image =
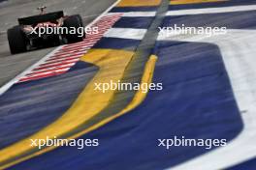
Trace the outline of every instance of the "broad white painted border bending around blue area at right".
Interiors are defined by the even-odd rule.
[[[227,146],[197,156],[172,170],[225,169],[256,156],[256,31],[228,30],[226,35],[172,35],[161,41],[209,42],[219,46],[243,121],[239,136]],[[234,154],[234,152],[236,154]]]

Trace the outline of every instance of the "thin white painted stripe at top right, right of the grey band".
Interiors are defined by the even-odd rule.
[[[233,13],[233,12],[245,12],[245,11],[256,11],[256,5],[177,10],[177,11],[169,11],[166,15],[219,14],[219,13]]]

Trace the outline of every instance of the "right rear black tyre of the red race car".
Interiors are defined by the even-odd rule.
[[[82,23],[80,14],[68,16],[66,19],[64,19],[63,26],[68,28],[68,34],[66,34],[65,37],[69,43],[81,42],[83,40],[84,29],[83,29],[83,23]],[[82,27],[82,30],[83,30],[82,35],[79,33],[79,31],[77,31],[79,27]],[[76,34],[70,34],[71,32],[74,31],[74,28],[76,29]]]

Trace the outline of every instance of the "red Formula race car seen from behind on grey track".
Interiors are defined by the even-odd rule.
[[[38,15],[18,18],[18,25],[8,29],[7,37],[12,54],[83,40],[85,34],[80,14],[67,16],[63,11],[45,14],[44,9],[46,7],[38,8],[41,11]],[[77,31],[79,28],[83,29],[82,34]]]

